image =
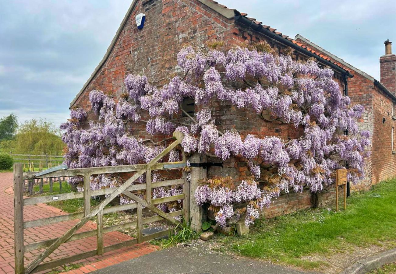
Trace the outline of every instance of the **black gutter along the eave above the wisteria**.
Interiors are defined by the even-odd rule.
[[[247,19],[246,17],[242,16],[242,15],[235,15],[235,20],[246,25],[247,27],[250,27],[254,30],[257,30],[259,32],[261,32],[262,34],[264,34],[265,36],[268,36],[269,38],[275,39],[276,41],[285,44],[286,46],[289,46],[290,48],[293,48],[309,57],[314,57],[316,59],[318,59],[318,61],[320,61],[320,63],[329,66],[331,68],[333,68],[334,70],[345,74],[346,76],[352,78],[353,75],[350,74],[350,72],[344,70],[343,68],[323,59],[322,57],[320,57],[319,55],[316,55],[315,53],[310,52],[309,50],[302,48],[300,46],[298,46],[297,44],[294,44],[293,42],[291,42],[290,40],[276,34],[275,32],[272,32],[266,28],[264,28],[262,25],[257,25],[256,23],[253,23],[253,21],[250,21],[249,19]]]

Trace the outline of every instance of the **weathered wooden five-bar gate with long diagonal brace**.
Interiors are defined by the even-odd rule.
[[[185,180],[185,174],[183,172],[182,179],[152,182],[151,181],[151,171],[153,170],[163,170],[163,169],[181,169],[186,166],[186,159],[183,153],[183,160],[181,162],[171,162],[171,163],[159,163],[166,154],[168,154],[173,148],[181,143],[183,140],[183,134],[176,131],[173,133],[173,137],[176,139],[169,147],[164,149],[158,156],[156,156],[148,164],[138,164],[138,165],[127,165],[127,166],[111,166],[111,167],[89,167],[89,168],[79,168],[79,169],[66,169],[54,171],[47,173],[45,175],[40,175],[37,177],[32,177],[32,175],[23,174],[22,165],[14,165],[14,231],[15,231],[15,273],[31,273],[46,270],[49,268],[54,268],[63,264],[71,263],[73,261],[78,261],[80,259],[85,259],[95,255],[101,255],[105,252],[119,249],[132,244],[141,243],[153,238],[168,235],[169,230],[156,232],[154,234],[149,234],[143,236],[142,226],[143,224],[152,223],[155,221],[166,219],[170,223],[177,225],[179,221],[175,219],[176,216],[183,215],[186,220],[190,219],[190,185]],[[90,188],[90,176],[97,174],[106,173],[123,173],[123,172],[135,172],[132,177],[130,177],[123,185],[114,188],[103,188],[99,190],[91,190]],[[132,183],[138,179],[142,174],[146,173],[146,183],[132,185]],[[23,181],[24,179],[40,179],[48,177],[70,177],[70,176],[84,176],[84,192],[72,192],[63,193],[57,195],[48,196],[38,196],[32,198],[23,198]],[[166,198],[152,199],[151,193],[152,188],[161,186],[173,186],[173,185],[183,185],[183,194],[175,195]],[[146,200],[143,200],[131,193],[134,190],[146,190]],[[130,199],[134,200],[136,203],[117,205],[106,207],[114,198],[118,195],[124,194]],[[108,195],[105,200],[103,200],[99,205],[91,209],[90,199],[91,196],[98,195]],[[69,215],[61,215],[56,217],[49,217],[44,219],[37,219],[34,221],[24,221],[23,220],[23,207],[25,205],[34,205],[39,203],[53,202],[54,200],[69,200],[75,198],[84,198],[84,212],[72,213]],[[165,202],[172,202],[177,200],[183,200],[183,208],[179,211],[165,213],[164,211],[158,209],[155,205]],[[142,208],[147,207],[154,213],[158,214],[153,217],[143,218]],[[108,227],[103,227],[103,214],[112,213],[117,211],[123,211],[128,209],[137,209],[137,221],[132,221],[129,223],[124,223],[121,225],[113,225]],[[80,233],[75,233],[89,220],[96,217],[97,220],[97,230],[85,231]],[[25,228],[31,228],[36,226],[44,226],[53,223],[59,223],[63,221],[69,221],[73,219],[80,219],[72,228],[70,228],[63,236],[55,239],[44,240],[41,242],[34,242],[31,244],[24,244],[23,231]],[[116,231],[129,226],[137,227],[137,238],[133,240],[128,240],[119,244],[103,246],[103,234],[106,232]],[[80,253],[78,255],[49,261],[42,263],[42,261],[48,257],[55,249],[57,249],[61,244],[65,242],[70,242],[90,236],[97,236],[97,249],[88,251],[85,253]],[[35,258],[29,265],[25,267],[24,265],[24,253],[35,250],[46,248],[41,255]],[[42,264],[40,264],[42,263]]]

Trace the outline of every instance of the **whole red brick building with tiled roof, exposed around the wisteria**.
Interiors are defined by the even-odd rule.
[[[135,23],[135,17],[139,13],[145,13],[143,29],[138,29]],[[362,183],[362,187],[367,188],[371,182],[376,183],[393,175],[392,167],[394,168],[396,159],[388,146],[390,135],[387,135],[387,132],[394,126],[394,120],[391,114],[386,114],[395,98],[392,93],[379,82],[372,78],[370,80],[367,78],[369,76],[364,76],[360,70],[341,62],[324,50],[315,48],[308,42],[293,40],[276,29],[247,17],[246,13],[211,0],[134,0],[105,56],[72,101],[71,107],[90,110],[88,94],[93,89],[112,92],[117,97],[125,91],[124,78],[129,73],[145,74],[151,80],[166,77],[177,70],[176,56],[181,48],[186,45],[201,48],[208,40],[223,40],[226,48],[240,43],[267,41],[278,53],[292,49],[296,59],[306,60],[313,57],[322,65],[332,68],[341,90],[348,87],[352,102],[364,103],[368,107],[360,123],[362,127],[368,127],[374,133],[375,153],[369,160],[367,180]],[[392,58],[395,58],[394,55],[381,57],[384,68],[392,65]],[[385,62],[388,59],[391,61]],[[387,85],[395,83],[392,82],[394,71],[389,75],[384,72],[384,77],[387,77],[390,83]],[[195,108],[195,111],[198,111],[200,106]],[[234,128],[241,135],[252,133],[262,137],[271,135],[292,139],[300,134],[293,126],[265,122],[257,113],[237,110],[232,105],[218,105],[213,114],[220,130]],[[385,123],[382,123],[382,116],[386,118]],[[380,123],[381,126],[375,126],[376,123]],[[137,126],[136,132],[139,137],[145,137],[144,128],[143,123]],[[388,152],[388,149],[390,154],[386,159],[389,162],[381,167],[381,162],[384,164],[385,161],[375,157]],[[379,167],[381,170],[377,169]],[[249,171],[244,159],[232,158],[224,162],[223,167],[208,168],[207,175],[230,175],[240,180],[248,176]],[[333,192],[326,195],[330,197]],[[291,193],[276,200],[265,215],[272,217],[311,205],[312,194],[309,192]]]

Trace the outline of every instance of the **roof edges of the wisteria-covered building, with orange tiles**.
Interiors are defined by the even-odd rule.
[[[309,52],[314,57],[316,57],[318,59],[318,61],[324,63],[325,65],[331,65],[331,67],[333,67],[333,68],[334,68],[334,66],[335,66],[335,68],[339,67],[342,70],[344,70],[346,72],[346,74],[348,74],[349,77],[353,77],[349,73],[351,71],[351,69],[348,68],[348,66],[343,65],[342,62],[340,62],[340,61],[333,62],[330,57],[328,57],[328,56],[326,56],[326,55],[324,55],[324,54],[322,54],[322,53],[320,53],[318,51],[315,51],[314,49],[308,48],[308,47],[304,46],[301,43],[298,43],[294,39],[290,38],[287,35],[282,34],[282,32],[276,31],[276,29],[274,29],[274,28],[272,28],[270,26],[263,25],[263,22],[257,21],[255,18],[247,17],[247,13],[241,13],[238,10],[227,8],[226,6],[224,6],[222,4],[219,4],[218,2],[213,1],[213,0],[198,0],[198,1],[201,2],[202,4],[208,6],[212,10],[220,13],[221,15],[226,17],[227,19],[234,19],[236,17],[244,17],[244,18],[246,18],[247,20],[249,20],[251,22],[250,23],[250,27],[252,27],[253,29],[257,29],[258,27],[261,27],[261,28],[263,28],[265,30],[268,30],[269,32],[272,32],[274,34],[274,37],[278,36],[278,38],[282,38],[282,39],[284,39],[284,41],[291,42],[291,43],[297,45],[297,48],[304,49],[303,53]],[[110,53],[111,53],[112,49],[114,48],[114,46],[115,46],[115,44],[116,44],[116,42],[118,40],[118,37],[120,36],[122,30],[124,29],[124,26],[126,25],[130,15],[131,15],[131,13],[133,11],[133,8],[135,8],[136,3],[137,3],[137,0],[133,0],[131,6],[129,7],[129,9],[128,9],[127,13],[126,13],[126,15],[124,16],[124,19],[122,20],[122,22],[120,24],[120,27],[118,28],[118,30],[116,32],[116,35],[114,36],[113,40],[111,41],[111,44],[110,44],[109,48],[107,49],[107,51],[105,53],[105,56],[100,61],[99,65],[97,65],[95,70],[92,72],[91,76],[89,77],[87,82],[84,84],[82,89],[78,92],[76,97],[70,103],[70,106],[72,106],[74,103],[76,103],[76,101],[78,100],[80,95],[84,92],[84,90],[87,88],[87,86],[89,85],[91,80],[95,77],[95,75],[99,72],[99,70],[102,68],[102,66],[105,64],[105,62],[109,58]],[[296,48],[296,47],[293,47],[293,48]],[[305,50],[307,50],[307,51],[305,51]]]

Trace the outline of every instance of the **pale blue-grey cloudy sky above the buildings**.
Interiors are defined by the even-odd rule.
[[[218,0],[280,32],[301,34],[379,80],[394,0]],[[243,4],[241,4],[241,2]],[[102,59],[131,0],[0,0],[0,117],[59,125]]]

